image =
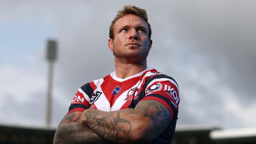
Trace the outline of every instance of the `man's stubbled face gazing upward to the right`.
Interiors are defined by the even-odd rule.
[[[128,14],[115,22],[114,39],[109,39],[108,46],[118,59],[130,62],[143,61],[151,48],[148,40],[148,25],[137,15]]]

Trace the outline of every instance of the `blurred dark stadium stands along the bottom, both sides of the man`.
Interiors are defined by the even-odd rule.
[[[0,144],[52,144],[55,131],[0,125]],[[178,126],[172,144],[256,144],[256,128]]]

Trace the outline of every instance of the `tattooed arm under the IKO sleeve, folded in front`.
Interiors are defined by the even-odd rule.
[[[113,143],[150,142],[171,122],[167,108],[154,100],[143,100],[135,109],[104,112],[87,109],[80,122]]]

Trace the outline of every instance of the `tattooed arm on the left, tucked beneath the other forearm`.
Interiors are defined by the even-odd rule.
[[[78,122],[82,112],[76,111],[64,116],[54,135],[54,144],[106,144],[106,140],[88,126]]]

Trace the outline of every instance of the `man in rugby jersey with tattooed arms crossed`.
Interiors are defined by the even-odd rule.
[[[147,67],[150,37],[144,9],[124,6],[118,11],[108,40],[116,71],[78,89],[55,144],[171,142],[179,88],[173,78]]]

